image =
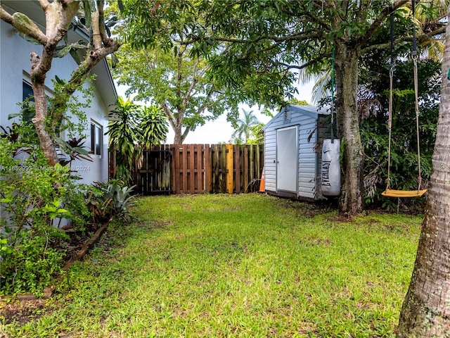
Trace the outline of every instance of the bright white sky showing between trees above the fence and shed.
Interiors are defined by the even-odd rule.
[[[313,82],[309,84],[299,84],[298,92],[299,94],[295,95],[297,99],[307,101],[311,103],[311,92],[312,87],[314,86]],[[117,85],[117,94],[119,96],[124,96],[124,92],[127,89],[124,86]],[[136,102],[136,104],[139,104]],[[257,116],[259,122],[268,123],[271,118],[266,115],[262,115],[259,113],[258,106],[240,106],[239,112],[243,114],[243,109],[245,111],[252,110]],[[278,112],[274,112],[275,114]],[[274,114],[274,115],[275,115]],[[188,133],[188,136],[184,140],[184,144],[219,144],[219,143],[228,143],[231,141],[231,135],[233,134],[234,129],[231,127],[231,123],[226,121],[226,114],[221,115],[217,120],[207,122],[205,125],[201,127],[195,128],[194,131]],[[174,131],[172,127],[169,127],[169,134],[167,134],[166,143],[172,144],[174,142]]]

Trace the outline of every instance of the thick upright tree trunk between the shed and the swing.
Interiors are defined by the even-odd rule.
[[[336,42],[336,113],[338,135],[344,144],[344,184],[340,211],[356,215],[364,210],[364,149],[359,133],[358,49],[345,42]]]

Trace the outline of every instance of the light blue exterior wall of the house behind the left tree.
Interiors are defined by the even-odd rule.
[[[0,21],[0,125],[2,127],[11,126],[17,118],[8,120],[11,113],[19,113],[18,103],[23,101],[23,80],[30,82],[30,53],[37,51],[41,53],[41,46],[27,42],[14,32],[13,27]],[[72,70],[75,70],[77,63],[72,57],[54,58],[51,70],[46,77],[46,86],[51,95],[53,83],[51,79],[58,75],[61,79],[69,79]],[[91,145],[91,119],[103,127],[103,133],[108,128],[108,121],[105,116],[108,114],[108,106],[101,99],[96,85],[84,84],[85,87],[91,87],[94,95],[91,98],[91,105],[85,109],[88,125],[84,134],[86,135],[86,146],[90,150]],[[82,96],[79,101],[84,102]],[[67,139],[67,135],[61,135]],[[93,161],[75,161],[72,163],[72,169],[77,170],[82,177],[80,182],[91,183],[108,180],[108,137],[103,136],[102,155],[93,155]]]

